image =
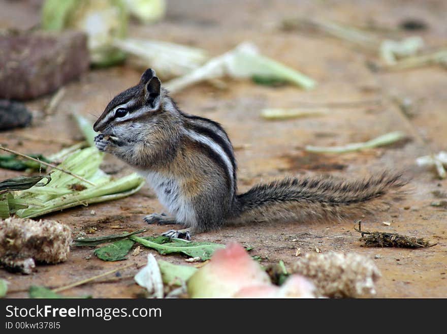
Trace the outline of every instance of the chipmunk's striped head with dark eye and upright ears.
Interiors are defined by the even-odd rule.
[[[106,135],[132,131],[132,124],[159,111],[161,94],[161,81],[154,70],[147,69],[136,86],[124,90],[109,102],[93,130]]]

